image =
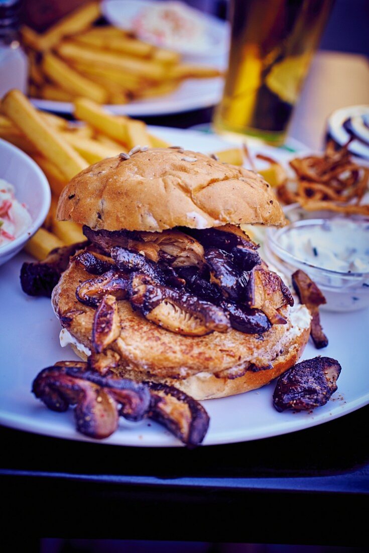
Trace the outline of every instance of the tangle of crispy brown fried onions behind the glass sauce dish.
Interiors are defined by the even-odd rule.
[[[296,177],[292,182],[281,182],[278,199],[284,204],[298,202],[309,211],[369,215],[369,205],[361,204],[368,190],[369,168],[352,160],[348,147],[349,143],[335,150],[334,143],[329,142],[323,155],[292,159],[289,165]]]

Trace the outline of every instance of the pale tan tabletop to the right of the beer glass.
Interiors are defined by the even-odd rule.
[[[326,118],[335,109],[369,104],[365,56],[319,51],[293,114],[289,137],[312,149],[323,146]]]

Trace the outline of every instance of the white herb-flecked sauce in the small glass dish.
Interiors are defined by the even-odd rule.
[[[309,223],[314,221],[309,220]],[[280,236],[282,248],[305,263],[342,273],[369,272],[369,223],[331,219],[290,225]]]

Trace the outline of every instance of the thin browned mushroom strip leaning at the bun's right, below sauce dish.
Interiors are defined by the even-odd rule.
[[[312,326],[310,336],[317,349],[328,346],[328,338],[323,332],[320,324],[319,305],[326,303],[326,300],[318,286],[301,269],[292,275],[293,288],[302,304],[305,304],[312,314]]]

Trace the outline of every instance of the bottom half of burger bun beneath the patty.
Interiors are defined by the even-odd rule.
[[[256,372],[247,371],[243,376],[232,379],[218,378],[207,372],[197,373],[183,379],[151,377],[146,377],[146,379],[175,386],[196,400],[224,398],[261,388],[293,367],[301,357],[309,340],[311,317],[308,309],[304,305],[295,306],[290,310],[290,317],[293,326],[284,337],[283,351],[271,362],[270,369]],[[86,352],[78,349],[75,343],[71,343],[71,346],[78,357],[87,361]],[[132,369],[118,367],[114,371],[123,378],[143,380],[143,373]]]

